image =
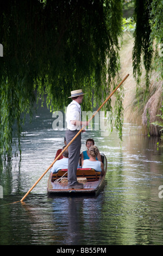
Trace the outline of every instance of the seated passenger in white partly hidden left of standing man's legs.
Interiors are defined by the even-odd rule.
[[[62,150],[64,150],[66,146],[64,146],[62,148]],[[66,149],[64,151],[64,153],[62,154],[63,158],[60,160],[57,160],[54,164],[53,167],[51,169],[52,173],[57,173],[58,170],[60,169],[67,169],[68,168],[68,149]]]

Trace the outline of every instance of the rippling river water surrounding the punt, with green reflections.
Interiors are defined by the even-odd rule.
[[[82,133],[82,151],[91,137],[108,159],[97,197],[48,197],[48,172],[23,203],[9,204],[21,200],[62,148],[65,131],[53,131],[52,122],[48,111],[37,113],[25,127],[21,162],[19,157],[1,159],[0,244],[162,245],[163,149],[131,124],[124,124],[121,145],[116,132],[109,137]]]

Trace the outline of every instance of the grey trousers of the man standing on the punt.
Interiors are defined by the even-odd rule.
[[[67,144],[71,142],[74,136],[77,135],[79,131],[66,130],[66,142]],[[81,148],[81,133],[68,147],[68,185],[74,185],[77,182],[77,167],[80,156]]]

